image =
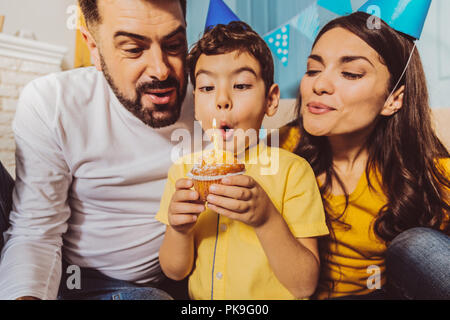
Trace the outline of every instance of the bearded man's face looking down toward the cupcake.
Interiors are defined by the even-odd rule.
[[[99,0],[98,7],[97,68],[119,101],[145,124],[175,123],[187,86],[186,24],[179,1]]]

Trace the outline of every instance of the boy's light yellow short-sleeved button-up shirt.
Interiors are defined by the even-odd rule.
[[[184,163],[186,159],[191,157],[169,170],[156,216],[162,223],[168,224],[176,180],[186,177],[192,168],[192,164]],[[260,143],[250,150],[245,165],[245,174],[264,188],[296,238],[328,234],[316,179],[304,159]],[[269,167],[278,170],[262,174],[264,170],[269,172]],[[194,239],[195,264],[189,276],[192,299],[294,299],[273,273],[252,227],[207,209],[197,220]]]

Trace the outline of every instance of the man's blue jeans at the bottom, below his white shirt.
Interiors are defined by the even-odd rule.
[[[79,269],[80,282],[77,288],[76,282],[73,281],[75,272],[67,269],[68,267],[63,261],[59,300],[173,300],[173,297],[187,299],[184,281],[174,282],[165,279],[158,285],[138,285],[109,278],[89,268]]]

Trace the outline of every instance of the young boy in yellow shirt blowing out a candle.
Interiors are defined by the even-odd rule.
[[[247,24],[205,33],[188,67],[197,120],[208,130],[217,119],[224,141],[238,129],[259,130],[264,115],[275,114],[272,55]],[[309,297],[319,275],[316,237],[328,234],[314,173],[302,158],[262,142],[244,149],[245,174],[211,186],[207,208],[186,178],[192,164],[171,167],[157,214],[167,225],[161,268],[174,280],[189,276],[192,299]],[[278,172],[262,175],[258,157],[274,151]]]

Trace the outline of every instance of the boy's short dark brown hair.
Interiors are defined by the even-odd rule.
[[[192,47],[187,57],[187,67],[194,88],[195,66],[202,54],[226,54],[235,50],[240,53],[247,52],[259,62],[267,94],[274,83],[272,53],[266,42],[248,24],[241,21],[233,21],[228,25],[218,24],[210,28]]]

